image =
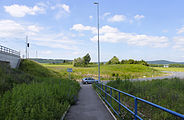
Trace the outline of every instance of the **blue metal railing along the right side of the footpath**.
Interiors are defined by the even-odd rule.
[[[174,116],[177,116],[177,117],[181,118],[181,120],[184,120],[184,115],[182,115],[182,114],[180,114],[180,113],[174,112],[174,111],[172,111],[172,110],[169,110],[169,109],[164,108],[164,107],[162,107],[162,106],[159,106],[159,105],[157,105],[157,104],[151,103],[151,102],[149,102],[149,101],[147,101],[147,100],[144,100],[144,99],[141,99],[141,98],[139,98],[139,97],[136,97],[136,96],[133,96],[133,95],[131,95],[131,94],[128,94],[128,93],[126,93],[126,92],[120,91],[120,90],[118,90],[118,89],[116,89],[116,88],[110,87],[110,86],[105,85],[105,84],[103,84],[103,83],[96,83],[95,86],[96,86],[96,88],[98,89],[98,90],[97,90],[97,93],[98,93],[98,94],[102,97],[102,99],[110,106],[110,108],[114,111],[114,113],[115,113],[118,117],[120,117],[120,114],[119,114],[119,113],[121,112],[121,106],[122,106],[122,107],[125,108],[127,111],[129,111],[132,115],[134,115],[134,120],[137,120],[137,119],[143,120],[143,119],[137,114],[137,113],[138,113],[138,107],[137,107],[138,101],[141,101],[141,102],[146,103],[146,104],[148,104],[148,105],[151,105],[151,106],[153,106],[153,107],[155,107],[155,108],[158,108],[158,109],[160,109],[160,110],[162,110],[162,111],[165,111],[165,112],[167,112],[167,113],[169,113],[169,114],[172,114],[172,115],[174,115]],[[104,87],[105,87],[105,88],[104,88]],[[107,92],[107,88],[110,89],[110,92],[109,92],[109,93]],[[115,97],[112,96],[112,90],[118,92],[118,99],[116,99]],[[103,96],[103,94],[105,94],[105,96]],[[121,94],[124,94],[124,95],[129,96],[129,97],[131,97],[131,98],[134,99],[134,111],[130,110],[126,105],[124,105],[124,104],[121,103]],[[108,101],[107,96],[110,97],[110,101]],[[113,106],[112,106],[112,100],[114,100],[115,102],[117,102],[117,103],[119,104],[119,105],[118,105],[118,111],[116,111],[115,108],[113,108]],[[118,113],[118,112],[119,112],[119,113]]]

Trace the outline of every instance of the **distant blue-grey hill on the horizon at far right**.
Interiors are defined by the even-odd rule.
[[[184,64],[184,62],[172,62],[167,60],[146,61],[148,64]]]

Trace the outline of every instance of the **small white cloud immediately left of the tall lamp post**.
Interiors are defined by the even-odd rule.
[[[84,26],[82,24],[75,24],[75,25],[73,25],[73,27],[71,29],[75,30],[75,31],[85,31],[85,30],[87,30],[87,31],[92,31],[92,33],[97,32],[96,27]]]

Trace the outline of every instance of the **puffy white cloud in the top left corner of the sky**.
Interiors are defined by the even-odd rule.
[[[36,15],[45,13],[45,9],[37,5],[33,7],[28,7],[26,5],[14,4],[10,6],[4,6],[4,9],[7,13],[9,13],[13,17],[24,17],[26,14]]]

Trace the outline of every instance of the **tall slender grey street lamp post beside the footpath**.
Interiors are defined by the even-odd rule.
[[[98,80],[100,82],[100,41],[99,41],[99,3],[95,2],[97,5],[97,26],[98,26]]]

